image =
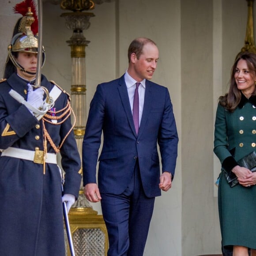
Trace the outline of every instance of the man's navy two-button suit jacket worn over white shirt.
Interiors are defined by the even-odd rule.
[[[98,159],[102,131],[104,139]],[[138,159],[146,196],[160,196],[157,143],[162,170],[174,176],[178,136],[168,89],[146,80],[137,136],[124,75],[99,84],[90,103],[83,139],[83,184],[96,183],[99,160],[100,193],[121,194],[128,186]]]

